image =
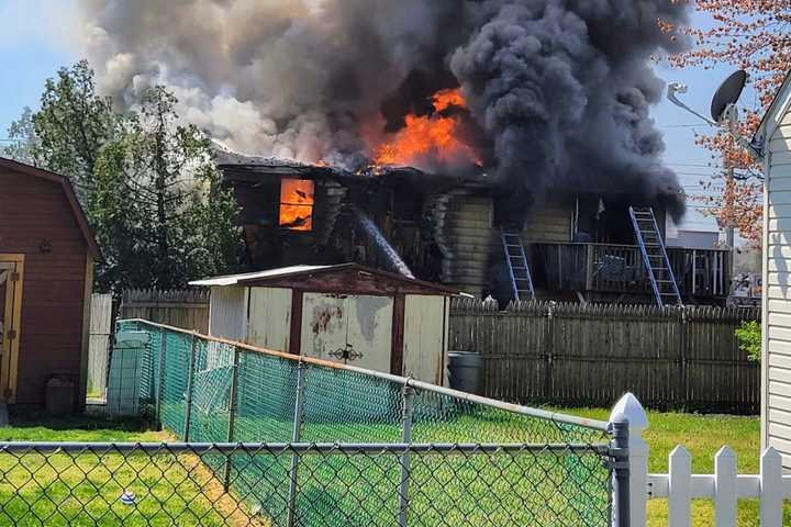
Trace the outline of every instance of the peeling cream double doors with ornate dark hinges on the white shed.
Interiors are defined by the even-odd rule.
[[[393,299],[305,293],[301,354],[390,371]]]

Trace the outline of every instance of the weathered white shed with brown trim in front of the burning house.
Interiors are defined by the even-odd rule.
[[[287,267],[192,285],[211,288],[212,336],[446,381],[448,288],[356,264]]]

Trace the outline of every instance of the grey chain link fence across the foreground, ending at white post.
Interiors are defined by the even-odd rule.
[[[609,474],[592,470],[606,457],[579,446],[0,444],[0,525],[606,525]],[[590,466],[583,481],[578,462]],[[562,479],[578,481],[572,495],[555,487]]]

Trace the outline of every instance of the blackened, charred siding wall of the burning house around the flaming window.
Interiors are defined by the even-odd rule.
[[[293,168],[229,173],[243,210],[250,270],[354,261],[398,272],[371,236],[374,225],[379,240],[387,242],[414,277],[476,296],[508,300],[511,294],[499,195],[484,180],[443,182],[414,171],[347,175]],[[294,178],[314,183],[310,231],[283,227],[278,217],[282,181]],[[525,244],[633,245],[631,200],[556,193],[521,211],[525,222],[520,232]],[[664,229],[664,206],[653,205]],[[360,216],[369,220],[367,228]]]

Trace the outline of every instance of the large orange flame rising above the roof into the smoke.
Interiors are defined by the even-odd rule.
[[[439,115],[452,106],[467,108],[461,89],[438,91],[432,104],[434,115],[404,117],[404,127],[376,150],[376,165],[420,165],[426,159],[442,164],[480,164],[475,149],[458,137],[461,120]]]

